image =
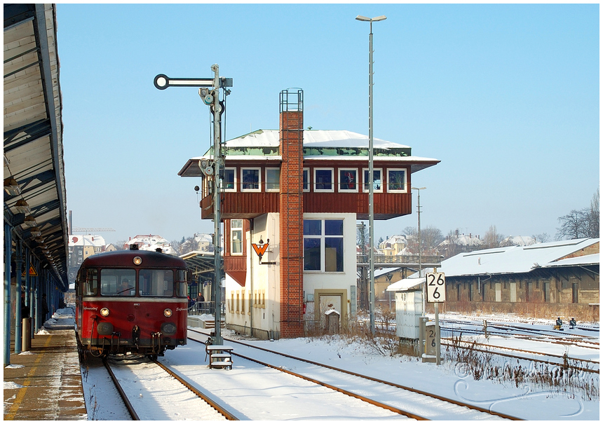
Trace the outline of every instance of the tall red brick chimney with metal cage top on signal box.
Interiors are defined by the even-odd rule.
[[[280,92],[280,336],[304,335],[304,92]]]

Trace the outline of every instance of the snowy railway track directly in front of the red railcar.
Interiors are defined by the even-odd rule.
[[[118,362],[121,361],[103,360],[103,364],[107,368],[132,420],[179,419],[180,417],[169,416],[165,411],[181,409],[184,412],[191,410],[190,393],[198,398],[198,402],[194,402],[194,416],[196,419],[239,419],[236,413],[218,404],[214,399],[205,395],[194,385],[191,385],[184,378],[156,360],[150,360],[146,357],[128,360],[127,369],[126,367],[120,367]],[[146,369],[144,373],[138,372],[137,367]],[[148,367],[156,367],[157,370],[152,372],[152,380],[147,381],[145,375],[149,374]],[[165,374],[164,378],[158,375],[162,373]],[[170,393],[169,399],[165,399],[164,394],[166,392]],[[143,397],[151,397],[152,400],[150,402],[147,399],[143,401]],[[182,408],[179,408],[178,405],[175,406],[177,402],[182,402]],[[166,407],[166,403],[169,404],[168,407]]]

